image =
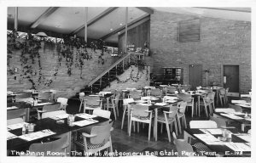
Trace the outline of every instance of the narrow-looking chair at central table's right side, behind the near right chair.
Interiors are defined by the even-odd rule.
[[[185,110],[186,110],[186,107],[187,107],[187,102],[179,102],[177,104],[177,125],[178,125],[178,129],[179,129],[179,132],[182,133],[181,131],[181,124],[180,124],[180,120],[182,121],[182,124],[185,128],[187,128],[187,121],[186,121],[186,116],[185,116]]]

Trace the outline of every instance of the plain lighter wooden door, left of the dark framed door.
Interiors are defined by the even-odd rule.
[[[189,65],[189,85],[192,90],[202,86],[202,65]]]

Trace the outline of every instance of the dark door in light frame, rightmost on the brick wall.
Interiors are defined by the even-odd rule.
[[[230,93],[239,93],[239,65],[224,65],[224,88]]]

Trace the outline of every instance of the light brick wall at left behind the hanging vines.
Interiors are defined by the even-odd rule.
[[[106,70],[110,65],[113,64],[114,61],[110,53],[104,53],[103,59],[105,59],[105,64],[98,64],[98,57],[101,55],[102,51],[96,50],[96,52],[94,52],[92,49],[88,48],[88,52],[92,54],[92,59],[84,59],[83,78],[80,79],[80,70],[79,68],[76,68],[74,66],[75,64],[73,64],[72,75],[67,75],[67,65],[64,58],[61,61],[61,67],[59,68],[57,76],[53,76],[55,70],[54,68],[57,65],[57,51],[55,48],[51,49],[47,46],[45,48],[41,48],[39,50],[39,53],[41,56],[42,74],[44,75],[46,80],[52,79],[53,82],[50,84],[49,87],[44,86],[44,84],[40,84],[37,89],[55,89],[60,91],[57,92],[59,96],[67,98],[72,97],[73,95],[75,95],[75,93],[79,93],[79,90],[81,88],[87,85],[96,76],[100,75],[102,71]],[[75,63],[75,61],[73,63]],[[34,69],[38,69],[38,65],[34,66]],[[19,92],[32,87],[31,82],[28,82],[26,79],[20,78],[20,51],[14,51],[12,53],[12,59],[10,59],[10,67],[18,68],[18,72],[13,76],[8,76],[8,90]]]

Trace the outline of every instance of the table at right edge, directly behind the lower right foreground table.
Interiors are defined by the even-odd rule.
[[[246,117],[247,115],[247,117]],[[213,117],[221,117],[241,124],[241,131],[244,132],[245,126],[251,126],[251,115],[241,112],[213,112]]]

